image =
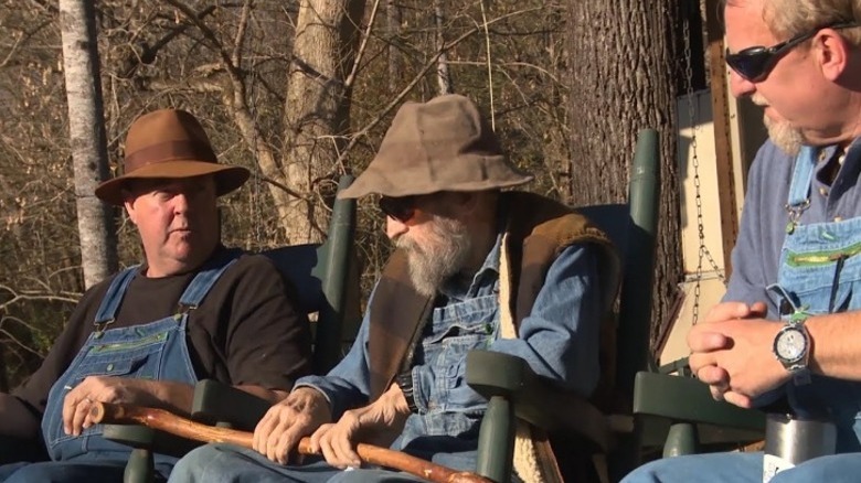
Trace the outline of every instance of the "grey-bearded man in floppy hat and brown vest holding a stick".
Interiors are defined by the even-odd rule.
[[[523,357],[588,396],[618,264],[587,219],[542,196],[500,191],[530,180],[468,98],[402,106],[374,160],[341,194],[381,195],[397,248],[350,353],[328,375],[299,379],[269,410],[254,433],[256,451],[199,448],[171,481],[414,480],[340,471],[361,465],[360,441],[475,471],[486,401],[465,383],[474,348]],[[308,434],[326,461],[285,465]],[[515,464],[522,479],[546,477],[524,463]]]

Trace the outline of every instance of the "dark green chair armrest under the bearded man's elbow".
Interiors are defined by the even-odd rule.
[[[536,375],[518,356],[492,351],[467,354],[467,384],[488,400],[501,396],[514,404],[518,418],[549,431],[575,431],[600,451],[612,446],[604,414],[582,396],[563,391]]]

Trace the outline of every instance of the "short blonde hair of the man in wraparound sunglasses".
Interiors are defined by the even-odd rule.
[[[778,39],[789,39],[833,22],[861,25],[861,0],[763,0],[763,20]],[[838,32],[853,46],[861,45],[861,29]]]

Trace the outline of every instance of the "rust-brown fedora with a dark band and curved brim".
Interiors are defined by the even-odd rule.
[[[96,187],[96,196],[123,205],[123,185],[134,179],[180,179],[213,174],[219,196],[242,186],[251,173],[219,164],[198,119],[179,109],[161,109],[137,118],[126,136],[123,175]]]

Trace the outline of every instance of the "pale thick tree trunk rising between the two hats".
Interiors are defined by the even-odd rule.
[[[334,162],[350,127],[351,86],[364,0],[301,0],[287,79],[283,171],[302,197],[281,219],[291,243],[321,236],[316,183],[340,171]]]

